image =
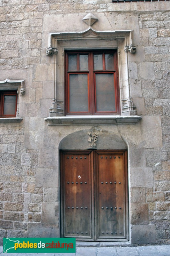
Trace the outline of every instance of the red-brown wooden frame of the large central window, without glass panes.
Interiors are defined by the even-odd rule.
[[[77,54],[77,69],[68,70],[68,55]],[[88,55],[89,57],[89,70],[79,70],[79,54]],[[103,55],[103,70],[94,70],[93,54]],[[105,56],[104,54],[113,54],[114,56],[114,70],[105,70]],[[115,84],[115,112],[97,112],[96,111],[96,95],[95,95],[95,74],[114,74]],[[88,99],[89,108],[88,112],[70,112],[69,111],[69,75],[70,74],[89,74],[88,79]],[[116,50],[97,50],[97,51],[65,51],[65,115],[119,115],[120,114],[120,96],[119,96],[119,77],[118,77],[118,61]]]

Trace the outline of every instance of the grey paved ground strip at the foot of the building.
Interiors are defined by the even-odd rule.
[[[170,245],[77,247],[76,253],[3,253],[0,256],[170,256]]]

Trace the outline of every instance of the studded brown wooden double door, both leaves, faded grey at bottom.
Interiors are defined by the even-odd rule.
[[[126,150],[60,152],[61,236],[128,240]]]

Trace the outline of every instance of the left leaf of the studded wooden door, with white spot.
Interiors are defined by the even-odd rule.
[[[61,235],[94,240],[93,151],[61,151]]]

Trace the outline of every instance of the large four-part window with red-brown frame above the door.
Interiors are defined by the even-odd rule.
[[[116,51],[66,52],[66,115],[119,114]]]

